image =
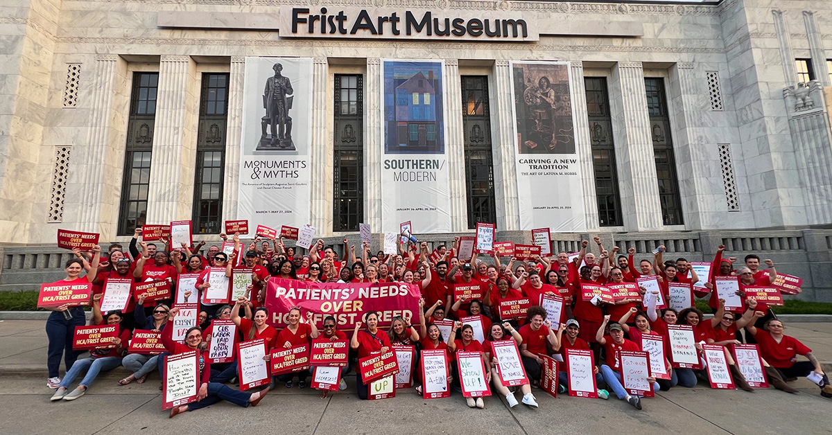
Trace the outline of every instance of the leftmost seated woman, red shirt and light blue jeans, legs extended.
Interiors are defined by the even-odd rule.
[[[93,302],[93,309],[100,307],[99,304],[101,304],[100,298]],[[99,310],[98,313],[100,314],[101,311]],[[75,363],[72,363],[72,368],[67,371],[67,374],[58,385],[57,390],[52,395],[52,398],[50,399],[52,402],[56,402],[61,399],[75,400],[80,398],[87,393],[87,389],[92,386],[92,382],[96,380],[98,373],[101,373],[102,371],[108,372],[121,365],[121,358],[126,353],[127,344],[130,342],[130,329],[126,329],[124,326],[121,326],[121,320],[124,319],[124,315],[117,309],[104,314],[102,317],[103,319],[101,324],[106,323],[108,325],[118,326],[118,336],[115,339],[112,339],[112,344],[114,344],[114,346],[112,348],[92,349],[90,351],[89,358],[78,359]],[[77,388],[67,394],[68,388],[70,384],[72,384],[72,381],[74,381],[75,378],[77,378],[78,375],[85,370],[87,371],[87,375],[84,376]]]

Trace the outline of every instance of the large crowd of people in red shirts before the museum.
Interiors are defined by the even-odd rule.
[[[225,234],[220,235],[228,240]],[[92,319],[90,324],[117,325],[119,334],[112,342],[114,347],[92,350],[88,358],[81,358],[80,352],[73,350],[73,331],[77,326],[86,324],[82,305],[62,305],[52,309],[47,320],[49,339],[47,365],[47,386],[56,389],[52,401],[71,401],[80,398],[92,387],[98,373],[123,365],[130,372],[118,381],[121,385],[145,383],[152,373],[160,375],[165,368],[167,355],[198,350],[200,355],[199,400],[195,403],[171,409],[171,417],[177,413],[197,408],[204,408],[220,400],[226,400],[243,407],[256,406],[265,397],[270,388],[283,383],[285,388],[292,388],[297,379],[298,388],[306,388],[310,371],[303,370],[273,378],[270,386],[255,393],[244,393],[230,388],[237,377],[237,364],[208,363],[206,345],[212,334],[211,320],[231,320],[237,326],[234,344],[251,339],[265,339],[269,348],[290,348],[313,340],[348,339],[348,334],[336,329],[335,319],[326,317],[323,323],[316,325],[312,313],[306,313],[306,321],[300,309],[291,309],[288,313],[288,325],[277,330],[268,324],[268,310],[265,308],[265,288],[271,277],[297,279],[310,282],[337,283],[384,283],[402,282],[414,284],[421,292],[418,316],[419,322],[412,324],[411,319],[396,317],[389,330],[379,329],[379,314],[367,312],[362,315],[349,337],[350,366],[354,367],[357,358],[364,358],[372,353],[386,353],[393,344],[415,345],[418,350],[445,350],[448,366],[452,367],[449,379],[458,387],[459,376],[456,373],[453,358],[458,351],[480,352],[485,366],[487,382],[492,383],[493,390],[505,397],[508,405],[518,405],[513,389],[522,394],[521,402],[537,408],[537,399],[532,392],[539,388],[542,374],[541,355],[557,356],[564,363],[559,364],[558,390],[568,391],[567,349],[592,350],[596,366],[594,373],[598,386],[598,397],[608,398],[607,389],[612,390],[618,399],[630,403],[637,409],[642,408],[641,398],[627,393],[622,386],[622,374],[618,354],[622,350],[641,350],[641,337],[656,335],[667,337],[668,325],[689,324],[696,335],[696,348],[701,351],[701,344],[716,344],[730,348],[735,344],[756,343],[765,366],[765,373],[771,385],[780,390],[796,393],[787,381],[797,377],[813,376],[822,378],[820,394],[832,398],[832,386],[811,349],[799,340],[785,335],[784,324],[776,318],[770,307],[757,303],[755,299],[746,298],[743,289],[750,285],[770,285],[776,276],[775,264],[763,260],[765,269],[760,269],[757,255],[746,255],[743,264],[734,258],[723,256],[725,247],[720,246],[713,260],[711,277],[705,278],[706,291],[697,290],[696,296],[707,298],[714,317],[705,319],[703,313],[690,307],[681,312],[676,309],[657,309],[658,296],[667,300],[668,283],[696,283],[700,277],[691,264],[684,258],[665,261],[662,258],[664,246],[658,246],[652,260],[643,259],[635,263],[636,251],[630,249],[622,255],[618,247],[612,253],[605,250],[601,240],[594,238],[597,255],[589,249],[589,241],[582,240],[582,249],[577,256],[570,258],[566,252],[552,257],[537,256],[534,260],[508,259],[497,255],[491,261],[483,261],[473,254],[470,259],[460,260],[457,239],[452,247],[438,246],[428,250],[428,244],[399,242],[399,253],[384,255],[383,251],[373,253],[369,244],[364,242],[359,252],[355,245],[349,246],[344,239],[344,252],[339,257],[333,246],[324,245],[323,240],[315,242],[308,252],[301,254],[295,248],[284,245],[282,240],[262,240],[245,246],[239,235],[232,235],[234,250],[225,252],[220,246],[210,246],[205,253],[205,242],[186,246],[181,250],[171,250],[168,240],[161,240],[159,245],[146,243],[141,238],[141,230],[136,230],[128,249],[122,245],[111,244],[106,253],[99,247],[90,252],[75,250],[75,258],[66,264],[67,283],[92,283]],[[245,252],[243,250],[245,246]],[[210,288],[206,277],[209,267],[221,267],[228,270],[236,263],[251,269],[252,282],[246,289],[245,296],[236,299],[233,305],[204,304],[201,294]],[[86,274],[85,274],[86,271]],[[102,290],[108,279],[133,279],[134,282],[168,280],[171,285],[177,282],[177,276],[183,273],[199,273],[193,289],[178,289],[186,300],[201,301],[198,324],[188,329],[184,343],[172,339],[173,328],[168,327],[177,309],[171,309],[172,299],[148,302],[139,298],[131,299],[126,310],[102,313]],[[641,276],[656,275],[661,294],[652,291],[644,298],[623,299],[615,304],[605,304],[597,299],[585,300],[582,286],[590,284],[635,283]],[[740,291],[743,306],[739,310],[726,310],[725,301],[716,296],[714,278],[735,275],[740,277]],[[704,277],[703,277],[704,278]],[[454,298],[454,286],[479,286],[483,299],[468,300],[465,297]],[[642,297],[646,289],[640,287]],[[542,296],[557,294],[564,300],[561,319],[547,319],[543,309]],[[651,297],[653,296],[653,297]],[[501,319],[497,309],[500,302],[509,299],[528,298],[532,307],[522,318]],[[483,325],[485,339],[473,338],[470,324],[463,324],[458,319],[466,316],[478,316]],[[450,337],[443,337],[443,332],[435,322],[453,319]],[[556,327],[553,325],[557,324]],[[128,343],[134,329],[150,329],[161,332],[166,353],[147,355],[130,353]],[[517,388],[503,386],[497,376],[498,358],[493,352],[492,344],[502,340],[513,340],[520,351],[522,365],[530,381]],[[671,373],[669,379],[647,378],[655,391],[666,391],[677,386],[691,388],[700,381],[707,381],[703,370],[692,368],[674,368],[670,360],[668,340],[664,340],[666,369]],[[753,392],[743,374],[736,368],[733,358],[728,356],[730,373],[738,387]],[[798,361],[802,355],[805,360]],[[59,369],[63,359],[66,374],[59,378]],[[349,373],[349,367],[342,373]],[[418,370],[414,370],[418,373]],[[72,388],[75,379],[82,376],[82,381]],[[367,398],[368,386],[360,376],[356,377],[356,390],[359,398]],[[160,389],[162,387],[160,386]],[[344,379],[339,389],[347,388]],[[606,388],[606,389],[605,389]],[[422,393],[421,386],[417,386]],[[321,397],[327,396],[321,392]],[[467,398],[471,408],[483,408],[483,398]]]

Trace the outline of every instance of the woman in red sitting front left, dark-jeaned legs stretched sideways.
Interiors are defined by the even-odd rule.
[[[239,305],[238,305],[239,306]],[[235,306],[237,308],[237,306]],[[173,324],[173,319],[176,317],[176,313],[179,312],[179,308],[171,309],[171,312],[168,313],[168,321]],[[197,357],[199,358],[199,365],[200,365],[200,389],[198,396],[196,398],[196,402],[188,403],[187,405],[182,405],[178,407],[171,408],[171,414],[169,418],[173,418],[176,414],[184,413],[186,411],[193,411],[199,408],[206,408],[214,403],[220,402],[220,400],[227,400],[230,403],[234,403],[235,405],[240,405],[243,408],[247,408],[249,405],[257,406],[260,403],[260,400],[265,398],[266,393],[269,393],[269,387],[257,392],[257,393],[243,393],[241,391],[237,391],[233,388],[228,387],[223,383],[217,382],[210,382],[210,363],[208,362],[208,350],[203,349],[202,344],[202,331],[198,326],[195,326],[191,329],[188,329],[185,333],[185,344],[177,343],[173,339],[173,330],[175,328],[166,328],[161,333],[161,341],[165,344],[165,348],[167,348],[168,352],[172,355],[176,355],[177,353],[185,353],[191,350],[196,350]]]

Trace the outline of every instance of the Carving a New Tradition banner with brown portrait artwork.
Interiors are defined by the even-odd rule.
[[[586,230],[569,62],[512,62],[520,229]]]

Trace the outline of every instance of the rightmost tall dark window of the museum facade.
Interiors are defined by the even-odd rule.
[[[665,82],[662,78],[645,78],[647,112],[653,157],[656,161],[656,180],[659,183],[661,220],[665,225],[683,225],[679,180],[676,177],[676,157],[673,156],[671,121],[667,113]]]

